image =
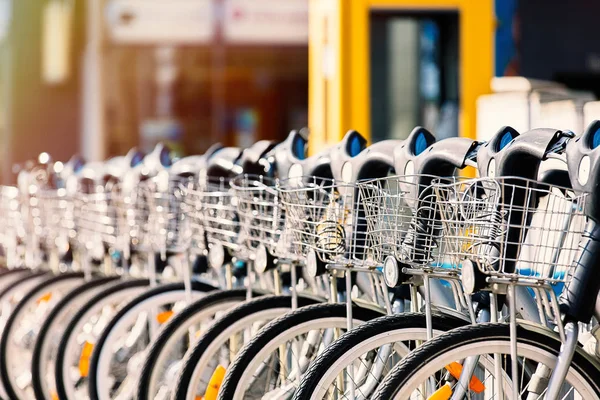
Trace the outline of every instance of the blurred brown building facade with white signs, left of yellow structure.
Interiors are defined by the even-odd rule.
[[[2,3],[4,180],[42,151],[195,154],[307,125],[305,0]]]

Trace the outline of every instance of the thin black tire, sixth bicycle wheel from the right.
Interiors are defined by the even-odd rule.
[[[88,381],[88,392],[91,400],[98,400],[98,381],[97,381],[97,373],[98,373],[98,362],[99,356],[102,352],[104,344],[106,343],[106,339],[110,334],[111,330],[115,327],[115,325],[119,322],[124,315],[126,315],[131,309],[136,307],[138,304],[163,293],[167,292],[179,292],[185,290],[185,284],[183,282],[177,283],[169,283],[165,285],[160,285],[151,290],[144,292],[143,294],[137,296],[135,299],[131,300],[127,305],[119,310],[119,312],[111,319],[106,328],[102,331],[102,334],[96,341],[94,345],[94,350],[92,352],[92,358],[90,359],[90,372],[89,372],[89,381]],[[192,291],[207,293],[216,290],[216,288],[208,283],[194,281],[192,282]]]

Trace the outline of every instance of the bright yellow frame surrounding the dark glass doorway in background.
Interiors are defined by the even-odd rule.
[[[456,10],[460,24],[461,136],[475,138],[476,99],[493,76],[493,0],[309,0],[311,150],[348,129],[370,137],[369,13]]]

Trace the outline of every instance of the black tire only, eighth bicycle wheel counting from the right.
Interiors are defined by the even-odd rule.
[[[98,288],[99,286],[114,282],[117,279],[119,279],[117,276],[98,278],[90,282],[86,282],[85,284],[71,290],[56,304],[56,306],[54,306],[52,311],[50,311],[48,314],[48,317],[46,317],[44,320],[44,323],[42,324],[40,332],[38,333],[35,341],[31,359],[31,385],[37,400],[49,399],[46,396],[47,393],[44,391],[44,377],[41,376],[42,350],[46,340],[49,339],[51,335],[56,334],[56,332],[52,330],[54,328],[56,318],[58,318],[63,311],[68,310],[72,303],[77,301],[80,296],[84,295],[88,291]]]

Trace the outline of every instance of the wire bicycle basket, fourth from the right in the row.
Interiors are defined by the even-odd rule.
[[[240,243],[256,250],[261,244],[273,255],[286,257],[285,214],[274,178],[240,175],[231,181],[241,224]]]

